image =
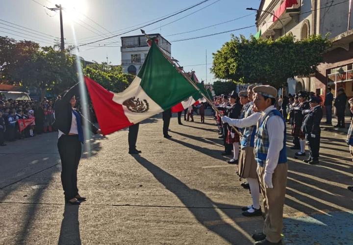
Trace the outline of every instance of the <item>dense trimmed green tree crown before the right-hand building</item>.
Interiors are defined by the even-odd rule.
[[[276,40],[232,36],[213,53],[211,72],[216,78],[280,87],[287,78],[317,72],[328,37],[312,35],[304,40],[282,36]]]

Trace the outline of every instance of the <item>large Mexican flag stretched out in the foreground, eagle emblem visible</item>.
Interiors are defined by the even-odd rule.
[[[104,135],[170,109],[197,91],[154,42],[125,91],[110,92],[89,77],[85,83]]]

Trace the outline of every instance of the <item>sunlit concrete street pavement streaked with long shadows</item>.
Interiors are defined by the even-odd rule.
[[[183,123],[172,119],[171,140],[159,116],[142,123],[137,156],[127,153],[126,130],[94,136],[78,170],[88,198],[80,206],[64,205],[56,133],[1,147],[0,244],[252,244],[263,220],[241,215],[251,196],[220,155],[214,121]],[[323,131],[318,166],[289,150],[286,244],[353,243],[344,137]]]

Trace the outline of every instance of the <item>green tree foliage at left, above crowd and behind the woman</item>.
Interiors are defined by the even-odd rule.
[[[62,93],[78,81],[76,56],[70,51],[0,36],[0,80],[36,87],[42,98],[46,91]],[[88,65],[83,73],[113,92],[122,92],[134,78],[106,62]]]

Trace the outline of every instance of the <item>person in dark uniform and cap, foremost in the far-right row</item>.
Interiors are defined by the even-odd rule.
[[[305,134],[309,145],[310,157],[303,160],[305,163],[318,164],[320,150],[320,123],[323,117],[323,110],[320,105],[321,98],[310,96],[310,110],[303,111],[304,121],[302,131]]]

